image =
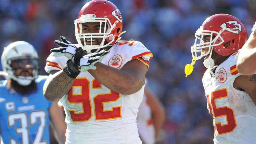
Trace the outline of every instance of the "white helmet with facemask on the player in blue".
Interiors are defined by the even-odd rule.
[[[30,43],[24,41],[10,43],[4,48],[1,56],[4,71],[1,74],[6,79],[13,79],[22,86],[28,86],[38,74],[38,59],[38,54]],[[27,77],[19,76],[19,73],[16,73],[18,69],[32,69],[32,74]]]

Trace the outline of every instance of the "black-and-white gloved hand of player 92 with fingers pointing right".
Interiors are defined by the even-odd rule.
[[[79,62],[79,65],[81,66],[79,71],[85,72],[89,69],[96,69],[96,66],[94,66],[94,64],[99,62],[108,53],[109,51],[101,50],[97,53],[84,55]]]

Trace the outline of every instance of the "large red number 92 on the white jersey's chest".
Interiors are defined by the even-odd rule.
[[[92,80],[92,89],[101,89],[102,85],[96,80]],[[80,92],[77,92],[77,90]],[[76,92],[74,92],[76,91]],[[88,121],[92,117],[92,104],[94,105],[95,120],[106,120],[121,118],[121,106],[111,107],[111,110],[104,110],[104,103],[116,102],[120,94],[110,90],[109,93],[98,93],[91,102],[90,81],[87,78],[76,78],[72,88],[68,93],[68,102],[71,104],[81,104],[82,112],[68,110],[73,122]]]

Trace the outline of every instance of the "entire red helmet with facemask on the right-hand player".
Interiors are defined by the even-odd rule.
[[[210,36],[210,42],[203,42],[205,36]],[[248,39],[248,34],[244,24],[238,18],[228,14],[216,14],[203,22],[196,31],[195,37],[191,52],[193,57],[200,59],[211,51],[210,49],[207,53],[202,53],[203,48],[213,48],[216,53],[223,56],[237,52]],[[227,42],[230,42],[230,45],[225,47],[224,44]]]

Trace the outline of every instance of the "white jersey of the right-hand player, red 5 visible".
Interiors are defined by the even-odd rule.
[[[256,143],[256,106],[246,92],[233,87],[240,76],[236,64],[233,54],[216,68],[214,78],[207,69],[202,79],[215,144]]]

